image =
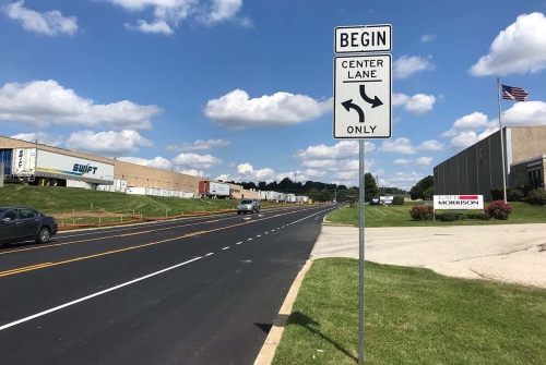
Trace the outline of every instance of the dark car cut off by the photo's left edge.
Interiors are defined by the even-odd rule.
[[[27,207],[0,207],[0,244],[34,240],[49,242],[57,234],[54,217]]]

